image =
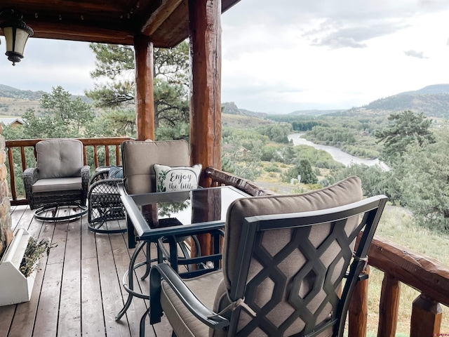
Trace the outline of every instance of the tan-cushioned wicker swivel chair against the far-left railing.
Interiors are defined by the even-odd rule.
[[[29,207],[36,209],[35,218],[73,220],[86,214],[89,166],[83,164],[83,143],[49,139],[36,143],[35,149],[36,167],[23,172],[25,194]]]

